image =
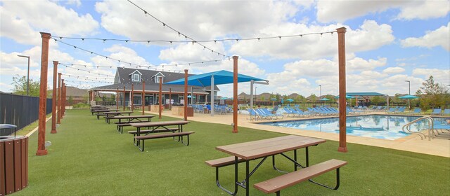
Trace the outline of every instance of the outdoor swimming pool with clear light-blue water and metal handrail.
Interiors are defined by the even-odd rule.
[[[347,117],[347,134],[359,137],[372,137],[377,139],[399,139],[406,137],[401,131],[401,127],[418,116],[387,116],[387,115],[370,115],[370,116],[349,116]],[[435,125],[444,122],[444,118],[434,118]],[[316,132],[339,133],[339,118],[321,118],[309,120],[292,120],[274,123],[262,123],[263,125],[271,125],[276,127],[289,127],[298,130],[311,130]],[[415,123],[411,126],[411,131],[419,131],[428,128],[425,120]]]

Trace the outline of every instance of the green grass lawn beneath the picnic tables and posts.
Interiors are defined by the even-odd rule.
[[[139,112],[136,112],[136,114]],[[158,117],[152,119],[158,120]],[[162,120],[175,120],[163,117]],[[15,195],[227,195],[215,184],[215,170],[205,160],[228,156],[216,146],[283,136],[273,132],[231,125],[191,122],[185,131],[194,131],[191,144],[184,146],[171,138],[146,141],[146,151],[133,145],[133,128],[124,134],[115,125],[97,120],[87,110],[67,110],[57,128],[46,140],[52,145],[49,154],[36,156],[37,132],[30,137],[30,185]],[[327,141],[309,148],[310,164],[332,158],[345,160],[341,169],[341,186],[328,190],[305,182],[282,191],[282,195],[449,195],[450,158],[396,151],[357,144],[347,144],[349,153],[338,153],[338,142]],[[299,151],[304,162],[304,150]],[[255,167],[258,161],[251,162]],[[293,170],[292,163],[277,157],[281,169]],[[243,179],[244,165],[240,165]],[[253,183],[271,179],[281,173],[264,162],[250,179],[250,195],[264,195]],[[221,168],[221,183],[233,186],[233,167]],[[317,181],[334,186],[335,172]],[[245,195],[240,188],[238,195]]]

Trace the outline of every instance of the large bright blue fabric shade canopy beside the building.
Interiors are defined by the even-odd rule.
[[[211,85],[211,77],[214,76],[214,85],[223,85],[223,84],[231,84],[233,83],[233,72],[231,71],[214,71],[210,73],[198,74],[195,76],[188,77],[188,85],[194,86],[210,86]],[[250,80],[261,81],[263,79],[255,78],[252,76],[247,76],[244,74],[238,73],[238,83],[250,82]],[[184,85],[184,78],[173,80],[171,82],[165,83],[167,85]]]

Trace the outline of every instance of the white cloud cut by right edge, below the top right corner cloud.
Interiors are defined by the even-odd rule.
[[[401,41],[403,47],[425,47],[432,48],[435,46],[442,46],[447,51],[450,51],[450,22],[447,26],[439,27],[434,31],[428,31],[425,36],[415,38],[410,37]]]

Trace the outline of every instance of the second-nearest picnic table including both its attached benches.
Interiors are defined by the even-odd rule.
[[[139,150],[143,151],[143,142],[146,139],[157,139],[157,138],[165,138],[165,137],[178,137],[178,141],[183,142],[184,136],[189,136],[189,134],[193,134],[193,132],[183,132],[183,125],[188,124],[189,121],[184,120],[172,120],[172,121],[159,121],[159,122],[148,122],[148,123],[130,123],[131,126],[136,127],[136,132],[134,133],[133,143],[135,146],[138,146]],[[177,126],[176,129],[170,128],[169,126]],[[149,130],[141,132],[141,128],[148,127]],[[161,128],[161,129],[160,129]],[[176,132],[178,131],[178,132]],[[158,133],[158,132],[171,132],[168,134],[157,134],[155,137],[150,137],[148,134]],[[145,133],[145,137],[141,137],[141,134]],[[187,134],[186,134],[187,133]],[[142,142],[141,142],[142,141]],[[142,144],[142,147],[141,147]],[[189,144],[189,137],[188,137]],[[186,145],[187,146],[187,145]]]

